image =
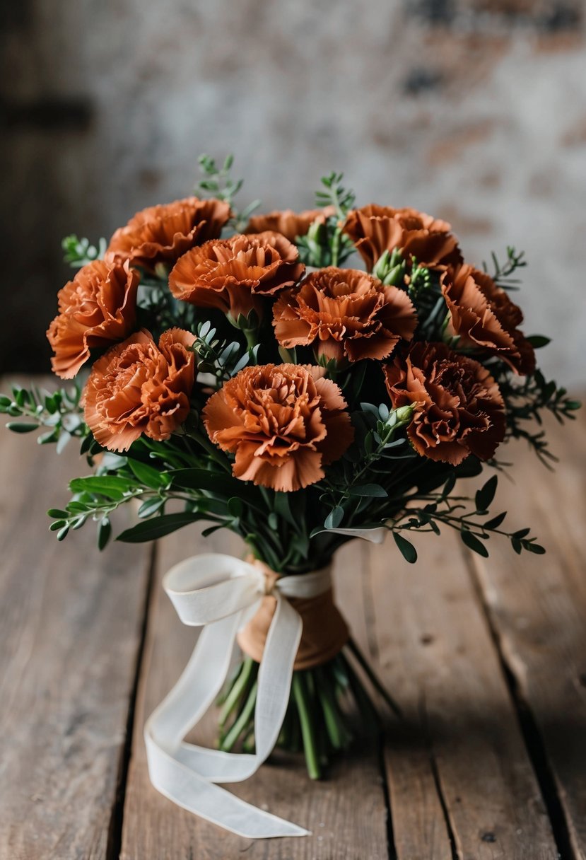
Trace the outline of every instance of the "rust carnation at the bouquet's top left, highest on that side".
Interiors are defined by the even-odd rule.
[[[223,200],[187,197],[137,212],[110,239],[106,259],[130,260],[154,270],[158,262],[174,262],[194,245],[214,239],[230,217]]]

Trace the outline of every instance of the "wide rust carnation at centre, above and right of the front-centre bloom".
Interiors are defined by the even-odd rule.
[[[401,338],[410,341],[417,316],[406,292],[383,286],[357,269],[318,269],[273,307],[275,335],[284,347],[316,343],[318,355],[338,361],[384,359]]]

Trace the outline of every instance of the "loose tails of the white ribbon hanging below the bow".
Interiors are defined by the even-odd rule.
[[[281,621],[277,626],[278,617]],[[307,836],[290,821],[253,807],[216,782],[238,782],[251,776],[271,753],[289,703],[293,661],[301,636],[301,619],[284,599],[267,639],[259,669],[255,709],[257,753],[222,753],[182,739],[204,715],[229,671],[241,612],[208,624],[173,690],[144,727],[150,781],[162,795],[189,812],[247,839]]]

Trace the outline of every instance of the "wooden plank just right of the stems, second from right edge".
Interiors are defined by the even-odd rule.
[[[421,535],[418,550],[414,566],[389,544],[370,554],[382,673],[406,710],[385,757],[397,857],[555,860],[459,538]]]

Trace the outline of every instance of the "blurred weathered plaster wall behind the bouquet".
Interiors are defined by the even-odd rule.
[[[3,3],[4,369],[46,367],[59,239],[109,236],[235,151],[247,192],[305,207],[330,169],[359,200],[448,218],[472,261],[527,251],[546,371],[586,370],[581,0]],[[8,299],[8,302],[6,301]],[[8,308],[8,311],[6,311]]]

